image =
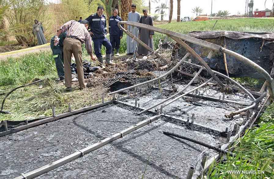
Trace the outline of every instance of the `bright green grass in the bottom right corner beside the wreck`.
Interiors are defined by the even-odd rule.
[[[257,127],[247,130],[232,146],[236,157],[226,156],[209,169],[210,179],[271,179],[274,174],[274,103],[267,107]],[[224,158],[222,158],[224,159]],[[264,171],[264,174],[229,174],[230,170]]]

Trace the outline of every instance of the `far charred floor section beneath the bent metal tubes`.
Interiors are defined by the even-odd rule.
[[[189,89],[191,88],[194,87],[190,86]],[[148,108],[165,100],[171,95],[170,91],[152,90],[146,95],[138,96],[137,102],[140,103],[140,107]],[[135,105],[135,98],[126,99],[124,102]],[[167,102],[163,104],[166,103]],[[155,111],[157,108],[160,108],[160,106],[150,109],[150,111]],[[226,127],[230,128],[231,120],[227,119],[224,115],[235,111],[238,106],[239,105],[232,103],[213,102],[185,96],[164,107],[163,111],[166,111],[166,114],[172,117],[184,120],[189,118],[190,121],[192,114],[195,114],[195,124],[200,124],[217,131],[225,131]]]

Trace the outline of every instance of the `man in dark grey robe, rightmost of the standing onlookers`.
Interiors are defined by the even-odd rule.
[[[153,26],[152,18],[147,15],[146,9],[143,9],[143,14],[144,14],[144,16],[141,17],[140,23]],[[149,46],[150,48],[153,49],[152,35],[154,35],[154,31],[139,28],[139,39],[141,41],[143,41],[147,46]],[[139,55],[148,55],[149,53],[150,52],[142,45],[138,46],[138,54]]]

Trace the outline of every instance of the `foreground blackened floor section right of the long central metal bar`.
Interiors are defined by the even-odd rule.
[[[37,178],[185,178],[189,167],[196,166],[206,148],[166,136],[163,131],[176,132],[211,145],[216,145],[219,140],[215,136],[158,119]],[[206,150],[206,153],[209,151]]]

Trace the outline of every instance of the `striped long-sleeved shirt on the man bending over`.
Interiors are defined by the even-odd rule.
[[[75,20],[70,20],[60,29],[62,29],[63,32],[67,31],[67,37],[74,36],[77,37],[82,44],[85,43],[87,53],[92,54],[91,35],[89,34],[84,24],[81,24]]]

